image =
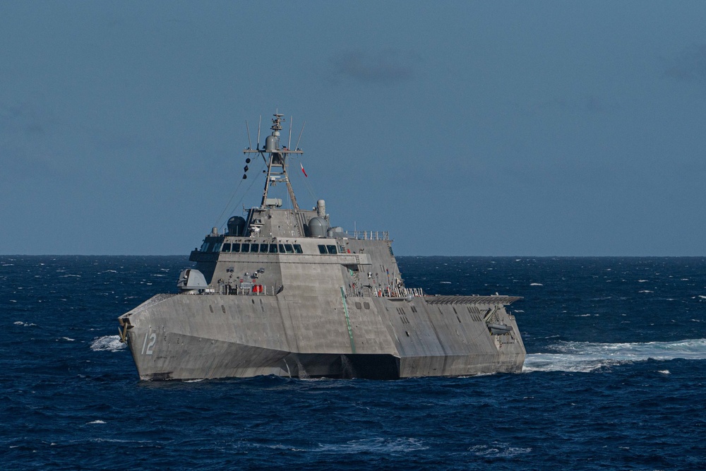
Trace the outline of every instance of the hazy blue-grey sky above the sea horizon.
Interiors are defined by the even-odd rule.
[[[246,121],[262,143],[280,112],[299,205],[397,255],[706,256],[705,24],[703,1],[0,0],[0,254],[189,254],[260,203]]]

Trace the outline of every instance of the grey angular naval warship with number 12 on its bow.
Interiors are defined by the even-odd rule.
[[[177,293],[156,294],[119,317],[140,378],[521,371],[525,345],[505,309],[521,298],[406,287],[388,232],[344,232],[330,224],[323,200],[299,208],[287,167],[302,151],[280,143],[282,121],[274,115],[263,148],[258,137],[244,150],[266,165],[260,205],[205,236]],[[290,143],[291,136],[290,128]],[[276,184],[287,186],[288,209],[268,195]]]

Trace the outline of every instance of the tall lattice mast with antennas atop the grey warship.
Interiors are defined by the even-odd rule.
[[[287,155],[289,154],[303,154],[302,150],[289,150],[287,147],[282,147],[280,144],[280,131],[282,131],[282,121],[285,121],[284,114],[273,115],[275,118],[272,120],[272,134],[265,138],[265,148],[260,148],[260,143],[258,142],[258,148],[246,149],[244,153],[258,153],[263,157],[265,164],[267,164],[267,177],[265,179],[265,189],[263,190],[263,199],[260,203],[260,208],[264,209],[268,205],[268,190],[270,186],[275,186],[280,181],[285,181],[287,184],[287,193],[289,193],[289,199],[292,201],[292,206],[294,210],[299,210],[299,205],[297,205],[297,198],[294,196],[294,190],[292,189],[292,184],[289,182],[289,175],[287,174]],[[267,154],[267,156],[265,156]]]

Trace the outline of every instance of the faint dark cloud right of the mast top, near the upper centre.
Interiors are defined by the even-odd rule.
[[[388,50],[369,54],[342,52],[331,59],[335,82],[351,79],[359,83],[391,85],[412,79],[412,60],[402,52]]]

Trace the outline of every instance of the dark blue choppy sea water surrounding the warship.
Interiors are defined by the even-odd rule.
[[[186,258],[0,256],[0,467],[706,469],[706,258],[398,259],[524,297],[524,372],[142,382],[116,318]]]

